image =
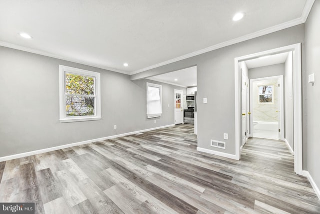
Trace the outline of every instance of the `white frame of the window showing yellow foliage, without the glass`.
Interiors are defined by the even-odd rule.
[[[72,117],[65,116],[65,97],[67,95],[65,93],[65,73],[90,76],[94,78],[94,96],[95,96],[94,115],[72,116]],[[100,102],[100,73],[59,65],[59,107],[60,107],[59,121],[60,123],[100,120],[101,119],[100,103],[101,103]]]

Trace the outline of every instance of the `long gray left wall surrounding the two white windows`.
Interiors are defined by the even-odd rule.
[[[101,73],[101,120],[59,123],[59,64]],[[157,84],[163,113],[146,119],[146,80],[0,46],[0,157],[174,124],[174,89],[186,89]]]

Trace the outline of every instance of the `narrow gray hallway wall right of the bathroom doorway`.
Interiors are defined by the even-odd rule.
[[[284,138],[289,143],[291,149],[293,147],[293,62],[292,52],[289,52],[288,57],[284,64],[285,75],[284,75]]]

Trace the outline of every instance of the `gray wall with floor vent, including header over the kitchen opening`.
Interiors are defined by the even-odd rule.
[[[132,75],[131,79],[197,65],[198,147],[235,154],[234,58],[296,43],[304,43],[304,24]],[[207,104],[201,102],[204,97]],[[228,133],[228,140],[223,140],[223,133]],[[211,147],[210,139],[225,141],[225,150]]]

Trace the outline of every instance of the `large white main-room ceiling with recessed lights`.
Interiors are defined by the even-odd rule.
[[[313,2],[1,0],[0,45],[134,74],[304,23]]]

